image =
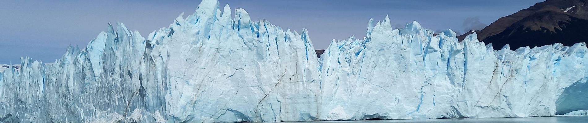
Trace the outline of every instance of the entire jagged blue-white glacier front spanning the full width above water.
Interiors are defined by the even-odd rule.
[[[232,15],[234,12],[234,18]],[[585,43],[493,50],[473,33],[368,22],[317,58],[307,30],[204,0],[147,37],[118,23],[85,48],[0,72],[0,122],[280,122],[582,115]],[[439,33],[439,34],[433,34]],[[435,36],[434,36],[435,35]]]

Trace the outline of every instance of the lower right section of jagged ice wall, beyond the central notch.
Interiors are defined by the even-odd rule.
[[[325,120],[541,117],[586,110],[586,44],[492,50],[388,17],[319,59]],[[584,92],[584,93],[582,93]],[[557,102],[557,103],[556,103]],[[325,105],[328,104],[328,105]],[[557,111],[557,112],[556,112]]]

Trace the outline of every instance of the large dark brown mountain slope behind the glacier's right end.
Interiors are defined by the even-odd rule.
[[[511,49],[516,49],[554,43],[573,45],[588,42],[586,3],[588,0],[539,2],[530,8],[501,17],[476,33],[480,41],[492,43],[495,50],[499,50],[505,44],[509,44]],[[459,38],[462,40],[467,35],[468,33],[458,38],[462,37]]]

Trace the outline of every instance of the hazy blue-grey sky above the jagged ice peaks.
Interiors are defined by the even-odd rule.
[[[315,49],[328,47],[333,39],[365,37],[370,18],[377,22],[388,15],[393,28],[416,20],[427,29],[452,29],[462,34],[542,1],[219,0],[221,8],[226,4],[233,10],[244,8],[252,20],[266,19],[298,32],[308,29]],[[54,62],[68,45],[85,47],[106,31],[109,22],[124,23],[146,37],[153,30],[168,27],[182,12],[192,15],[200,2],[0,0],[0,64],[19,64],[25,56]]]

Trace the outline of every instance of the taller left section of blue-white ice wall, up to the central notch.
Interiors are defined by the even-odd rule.
[[[146,39],[121,23],[54,63],[24,58],[0,73],[0,122],[315,119],[318,62],[306,30],[231,11],[205,0]]]

